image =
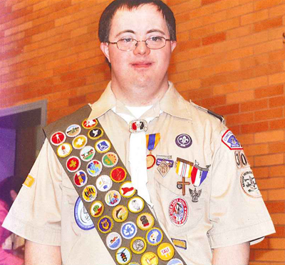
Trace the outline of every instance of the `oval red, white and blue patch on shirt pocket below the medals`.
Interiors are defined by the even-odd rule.
[[[185,199],[176,198],[170,202],[168,208],[168,214],[170,216],[170,221],[172,221],[175,226],[182,226],[186,223],[188,218],[188,204]]]

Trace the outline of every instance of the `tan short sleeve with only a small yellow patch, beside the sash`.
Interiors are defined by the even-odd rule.
[[[38,244],[61,244],[62,166],[46,140],[3,226]]]

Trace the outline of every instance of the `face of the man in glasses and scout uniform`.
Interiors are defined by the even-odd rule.
[[[116,44],[101,44],[112,66],[112,84],[145,87],[167,81],[170,56],[176,42],[167,41],[162,49],[149,49],[144,41],[151,36],[170,39],[167,24],[157,6],[145,4],[138,9],[119,9],[115,13],[109,41],[132,38],[140,42],[133,51],[120,51]]]

